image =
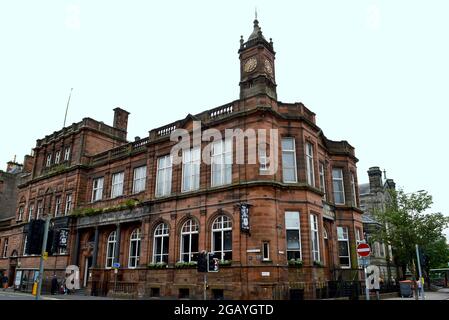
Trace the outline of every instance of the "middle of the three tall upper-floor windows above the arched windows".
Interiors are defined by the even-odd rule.
[[[200,188],[201,150],[199,147],[182,153],[182,192]]]

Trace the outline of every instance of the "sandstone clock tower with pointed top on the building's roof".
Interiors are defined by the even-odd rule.
[[[244,42],[240,39],[240,99],[258,94],[266,94],[277,100],[274,72],[273,41],[268,42],[262,35],[257,18],[253,33]]]

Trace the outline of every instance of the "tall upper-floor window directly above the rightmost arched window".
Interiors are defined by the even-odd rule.
[[[212,187],[232,182],[232,140],[220,140],[212,144]]]

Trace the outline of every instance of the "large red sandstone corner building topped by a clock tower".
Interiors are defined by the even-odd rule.
[[[0,234],[18,252],[21,288],[39,265],[26,252],[27,225],[46,215],[54,232],[70,234],[46,261],[46,276],[77,265],[82,287],[96,295],[113,292],[111,267],[118,262],[121,294],[200,299],[203,274],[195,261],[203,250],[221,261],[220,271],[208,274],[209,298],[312,299],[328,281],[358,273],[363,225],[354,148],[329,140],[302,103],[277,100],[273,42],[257,20],[248,40],[240,40],[239,58],[238,100],[145,138],[127,141],[129,114],[116,108],[113,126],[84,118],[37,140],[10,227],[20,232]],[[249,156],[250,142],[239,146],[237,139],[202,141],[173,163],[171,133],[193,135],[198,121],[223,136],[226,129],[277,136],[258,146],[255,163],[226,162],[240,151]],[[206,152],[212,164],[201,161]],[[270,174],[273,157],[279,168]],[[0,259],[5,269],[7,257]]]

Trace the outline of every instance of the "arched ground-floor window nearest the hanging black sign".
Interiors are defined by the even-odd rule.
[[[232,221],[219,216],[212,224],[212,252],[220,260],[232,260]]]

